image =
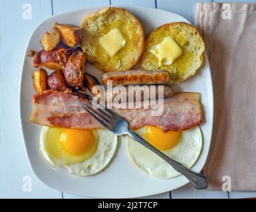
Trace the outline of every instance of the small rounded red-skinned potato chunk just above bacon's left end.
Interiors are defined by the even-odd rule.
[[[48,86],[56,91],[65,91],[66,90],[66,81],[61,70],[55,70],[47,79]]]

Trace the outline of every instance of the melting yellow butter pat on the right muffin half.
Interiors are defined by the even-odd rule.
[[[162,42],[154,45],[150,52],[158,57],[160,66],[162,64],[168,66],[182,55],[182,48],[172,36],[167,36]]]

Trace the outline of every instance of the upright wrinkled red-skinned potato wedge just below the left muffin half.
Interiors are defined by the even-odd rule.
[[[78,89],[82,87],[85,69],[85,54],[81,51],[74,52],[63,70],[64,78],[69,87]]]

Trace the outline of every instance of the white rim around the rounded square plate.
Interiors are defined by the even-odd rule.
[[[167,13],[172,13],[178,17],[182,17],[182,15],[179,15],[177,13],[174,13],[174,12],[171,12],[171,11],[166,11],[166,10],[162,10],[162,9],[156,9],[156,8],[152,8],[152,7],[140,7],[140,6],[129,6],[129,5],[115,5],[115,6],[105,6],[105,7],[122,7],[124,9],[150,9],[152,11],[164,11],[164,12],[167,12]],[[25,61],[26,61],[26,58],[27,58],[27,51],[28,51],[28,48],[29,48],[29,44],[31,42],[31,39],[33,37],[33,34],[35,34],[35,32],[40,28],[41,25],[43,25],[43,23],[46,23],[47,21],[51,20],[51,19],[56,19],[58,17],[61,17],[61,16],[66,16],[66,15],[69,15],[70,13],[76,13],[76,12],[82,12],[82,11],[98,11],[102,8],[105,8],[104,6],[98,6],[98,7],[84,7],[83,9],[77,9],[77,10],[74,10],[74,11],[68,11],[68,12],[65,12],[65,13],[60,13],[58,15],[53,15],[43,21],[41,21],[41,23],[39,23],[39,25],[37,25],[35,27],[35,29],[33,30],[33,32],[31,32],[31,35],[29,36],[29,40],[27,42],[27,45],[26,45],[26,48],[25,48],[25,54],[23,56],[23,62],[22,62],[22,66],[21,66],[21,76],[20,76],[20,85],[19,85],[19,123],[20,123],[20,127],[21,127],[21,134],[22,134],[22,140],[23,140],[23,146],[25,148],[25,152],[26,152],[26,157],[27,157],[27,160],[29,162],[29,167],[31,168],[31,170],[33,171],[33,173],[35,174],[35,176],[37,176],[37,178],[43,182],[43,184],[47,185],[48,187],[51,187],[53,189],[56,189],[57,191],[62,191],[64,193],[72,193],[74,195],[82,195],[82,196],[87,196],[87,197],[96,197],[96,198],[116,198],[114,196],[110,196],[110,197],[102,197],[100,195],[98,196],[93,196],[93,195],[83,195],[81,193],[76,193],[75,191],[67,191],[66,189],[60,189],[59,187],[55,187],[54,185],[49,185],[47,184],[47,182],[45,182],[41,176],[39,176],[39,174],[34,170],[32,164],[31,164],[31,160],[29,158],[29,152],[28,152],[28,148],[27,148],[27,142],[25,142],[25,132],[23,131],[23,128],[25,128],[25,123],[23,123],[23,119],[22,119],[22,115],[21,115],[21,110],[22,110],[22,103],[21,103],[21,94],[22,94],[22,86],[23,86],[23,75],[25,73]],[[190,23],[190,21],[188,21],[186,18],[182,17],[182,19],[186,20],[187,23]],[[191,23],[190,23],[191,24]],[[210,135],[209,135],[209,148],[207,148],[207,152],[205,152],[206,154],[206,158],[203,162],[203,166],[205,165],[205,162],[207,160],[207,156],[209,155],[209,149],[211,148],[211,138],[212,138],[212,132],[213,132],[213,117],[214,117],[214,109],[213,109],[213,102],[214,102],[214,99],[213,99],[213,84],[212,84],[212,77],[211,77],[211,69],[210,69],[210,66],[209,66],[209,60],[208,60],[208,57],[207,57],[207,53],[206,51],[204,52],[204,62],[205,64],[207,64],[207,68],[209,68],[209,81],[210,81],[210,85],[207,86],[208,89],[209,89],[209,93],[211,94],[211,97],[209,97],[210,101],[209,101],[209,109],[210,111],[212,111],[212,113],[210,114],[211,115],[211,122],[209,123],[210,124]],[[199,70],[200,71],[200,70]],[[207,121],[209,122],[209,121]],[[203,150],[203,148],[202,148]],[[196,164],[196,163],[195,163]],[[203,169],[203,166],[201,168],[201,170]],[[193,169],[193,167],[192,167]],[[201,172],[201,170],[199,172]],[[182,187],[186,184],[189,183],[189,181],[184,177],[183,177],[183,183],[182,185],[178,185],[177,187],[173,188],[173,189],[177,189],[179,187]],[[172,190],[173,190],[172,189]],[[157,194],[160,194],[160,193],[165,193],[165,192],[168,192],[168,191],[172,191],[172,190],[164,190],[164,191],[156,191],[156,192],[151,192],[151,193],[148,193],[148,195],[157,195]],[[132,197],[131,196],[126,196],[124,195],[124,197],[118,197],[118,198],[136,198],[136,197],[143,197],[142,195],[133,195]]]

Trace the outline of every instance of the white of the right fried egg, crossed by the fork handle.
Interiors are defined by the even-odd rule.
[[[142,136],[143,128],[137,132]],[[182,131],[182,137],[176,146],[162,150],[170,158],[180,162],[186,168],[191,168],[199,158],[202,148],[202,136],[199,127]],[[180,175],[170,164],[154,154],[151,150],[127,136],[127,150],[132,162],[144,173],[156,178],[174,178]]]

